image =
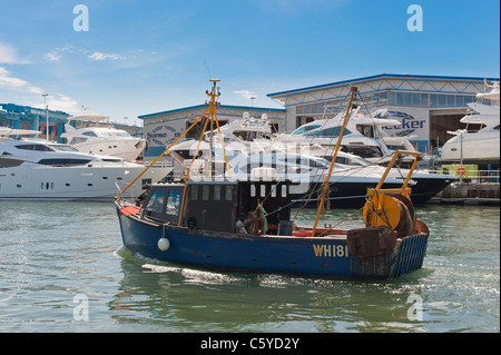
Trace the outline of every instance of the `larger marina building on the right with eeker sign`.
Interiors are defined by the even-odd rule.
[[[484,92],[484,80],[499,78],[441,77],[382,73],[282,92],[268,93],[285,106],[286,131],[314,120],[330,118],[347,105],[350,87],[356,86],[362,100],[361,111],[385,108],[400,126],[383,127],[390,136],[411,136],[410,141],[420,151],[441,147],[452,136],[449,131],[464,128],[460,119],[469,102]]]

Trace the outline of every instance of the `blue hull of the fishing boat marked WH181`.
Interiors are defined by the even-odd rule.
[[[351,257],[346,235],[325,237],[254,236],[190,230],[161,225],[120,214],[124,245],[140,255],[199,265],[203,267],[247,269],[341,278],[392,278],[421,268],[428,236],[399,239],[391,253]],[[160,238],[169,247],[158,247]]]

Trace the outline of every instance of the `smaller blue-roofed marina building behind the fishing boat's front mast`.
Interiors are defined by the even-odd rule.
[[[147,148],[145,149],[145,158],[148,159],[148,157],[159,156],[207,108],[208,105],[198,105],[139,116],[144,120],[144,137],[148,141]],[[219,125],[233,122],[234,120],[242,119],[244,112],[248,112],[250,117],[255,118],[261,118],[263,114],[266,114],[273,130],[284,131],[285,129],[284,109],[220,105],[217,107],[217,120]],[[199,124],[198,129],[194,128],[186,135],[186,138],[198,139],[203,124],[204,120]]]

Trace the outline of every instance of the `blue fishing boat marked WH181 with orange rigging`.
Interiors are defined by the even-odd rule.
[[[218,127],[219,89],[217,80],[212,81],[209,108],[198,120],[208,115]],[[351,99],[355,92],[352,88]],[[414,155],[412,172],[420,154],[397,150],[389,166],[401,155]],[[328,196],[328,177],[320,189],[314,226],[303,227],[291,218],[291,181],[277,179],[266,168],[247,179],[217,178],[210,170],[207,178],[188,174],[180,183],[154,184],[144,201],[127,201],[124,190],[115,204],[124,245],[147,257],[225,269],[393,278],[422,267],[430,231],[415,217],[409,198],[410,175],[394,189],[382,188],[385,177],[367,190],[367,203],[360,209],[365,226],[350,230],[335,229],[332,223],[317,227]]]

